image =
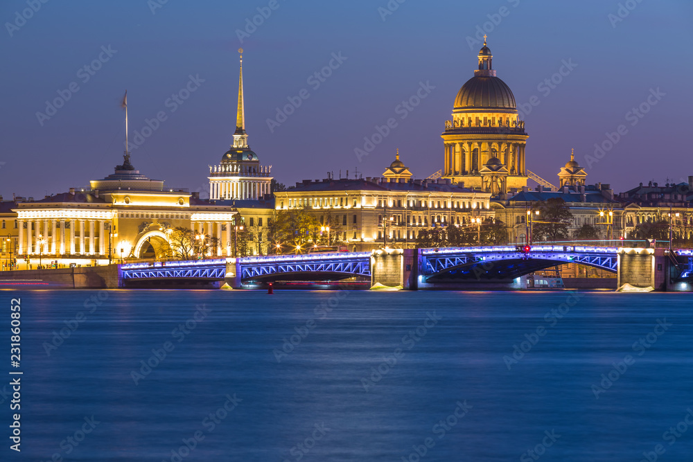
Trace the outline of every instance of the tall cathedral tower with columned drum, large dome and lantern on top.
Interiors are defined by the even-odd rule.
[[[478,69],[455,98],[453,119],[441,134],[445,145],[443,178],[493,194],[527,186],[525,143],[515,97],[495,75],[493,55],[479,51]],[[502,189],[502,190],[499,190]]]

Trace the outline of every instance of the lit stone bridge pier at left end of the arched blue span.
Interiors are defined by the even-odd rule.
[[[416,290],[418,249],[385,249],[371,253],[371,290]]]

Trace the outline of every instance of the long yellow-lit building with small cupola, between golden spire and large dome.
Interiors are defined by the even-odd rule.
[[[385,172],[408,171],[397,157]],[[340,240],[358,251],[383,245],[411,248],[423,229],[468,226],[472,218],[493,217],[490,193],[463,188],[449,179],[304,180],[274,195],[277,211],[304,210],[321,224],[331,215],[342,233]]]

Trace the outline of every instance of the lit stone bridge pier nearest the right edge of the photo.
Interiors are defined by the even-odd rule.
[[[669,261],[665,258],[664,249],[629,248],[618,249],[618,290],[625,284],[633,287],[652,287],[656,291],[665,291],[666,274]]]

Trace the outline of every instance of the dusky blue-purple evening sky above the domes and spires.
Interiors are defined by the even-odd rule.
[[[693,175],[689,0],[621,7],[604,0],[391,0],[394,11],[387,0],[33,1],[40,9],[27,10],[26,21],[17,19],[26,0],[0,3],[6,199],[61,193],[112,173],[122,162],[125,89],[131,147],[146,119],[159,112],[166,119],[131,149],[134,166],[170,187],[208,190],[208,166],[229,149],[235,129],[239,46],[249,143],[279,181],[322,179],[328,171],[338,177],[340,169],[353,177],[356,168],[380,176],[396,148],[414,177],[427,177],[442,168],[440,134],[473,75],[484,28],[493,68],[520,108],[533,96],[538,103],[525,110],[529,170],[556,184],[574,148],[588,184],[610,183],[616,192]],[[270,14],[247,27],[258,8]],[[99,58],[98,71],[84,69]],[[336,69],[324,82],[311,78],[331,62]],[[565,75],[554,75],[561,66]],[[552,75],[557,85],[545,83]],[[422,82],[426,98],[411,111],[399,106]],[[182,104],[169,100],[186,86],[195,91]],[[267,119],[277,121],[277,107],[304,89],[308,98],[270,130]],[[59,91],[69,100],[46,112]],[[647,114],[631,112],[640,105]],[[355,148],[388,118],[396,127],[358,159]],[[609,148],[607,132],[619,125],[620,140],[595,156],[595,143]]]

